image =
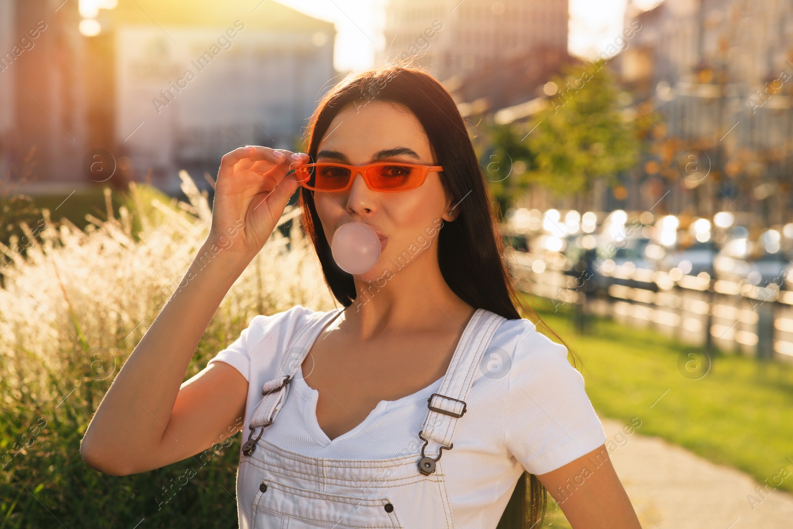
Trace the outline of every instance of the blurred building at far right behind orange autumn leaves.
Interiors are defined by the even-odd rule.
[[[630,2],[626,25],[637,21],[641,29],[619,63],[637,105],[665,122],[661,140],[672,163],[659,160],[661,175],[682,183],[670,188],[672,209],[740,209],[767,223],[786,221],[793,4],[665,0],[641,12]]]

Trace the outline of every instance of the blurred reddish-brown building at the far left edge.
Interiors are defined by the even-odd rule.
[[[82,180],[86,42],[77,2],[0,2],[0,171]]]

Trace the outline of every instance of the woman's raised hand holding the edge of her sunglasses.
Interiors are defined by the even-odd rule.
[[[251,146],[220,160],[209,240],[225,250],[252,257],[262,249],[295,190],[293,167],[308,155]]]

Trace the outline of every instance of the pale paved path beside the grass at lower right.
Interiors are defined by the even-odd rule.
[[[625,435],[623,423],[605,418],[601,422],[607,440],[616,446],[611,462],[644,529],[793,528],[793,495],[761,489],[762,500],[760,483],[739,470],[641,435],[641,427]],[[749,495],[759,501],[754,509]]]

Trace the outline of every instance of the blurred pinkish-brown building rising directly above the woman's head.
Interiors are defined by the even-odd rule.
[[[384,59],[408,56],[476,111],[537,97],[567,52],[566,0],[391,0]]]

